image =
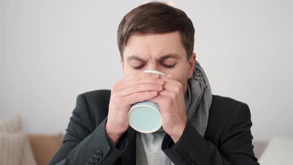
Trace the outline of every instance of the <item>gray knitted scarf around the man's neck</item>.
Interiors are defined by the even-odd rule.
[[[188,79],[184,100],[188,120],[204,137],[208,125],[209,110],[212,105],[212,90],[208,77],[198,61],[194,66],[192,78]],[[158,131],[164,130],[161,127]],[[162,165],[174,164],[165,155]]]

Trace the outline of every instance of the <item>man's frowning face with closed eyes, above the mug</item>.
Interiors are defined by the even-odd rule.
[[[164,34],[133,34],[129,37],[120,58],[124,76],[138,74],[147,70],[159,71],[165,75],[172,74],[174,79],[187,89],[187,80],[192,77],[195,53],[187,61],[180,32]]]

